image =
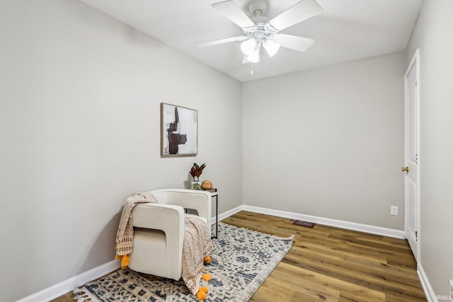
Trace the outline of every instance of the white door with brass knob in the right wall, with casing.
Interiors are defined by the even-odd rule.
[[[420,81],[419,50],[415,51],[411,64],[404,75],[405,88],[405,142],[404,162],[406,198],[406,238],[411,245],[415,260],[420,259]]]

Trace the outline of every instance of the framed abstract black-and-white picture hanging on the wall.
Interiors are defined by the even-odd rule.
[[[161,103],[161,156],[196,156],[198,111]]]

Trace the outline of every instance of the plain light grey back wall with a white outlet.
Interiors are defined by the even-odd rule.
[[[244,83],[244,203],[403,230],[405,69],[398,52]]]

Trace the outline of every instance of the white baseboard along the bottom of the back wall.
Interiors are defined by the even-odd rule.
[[[292,213],[289,211],[279,211],[274,209],[266,209],[260,207],[252,207],[248,205],[243,205],[242,210],[244,211],[253,211],[260,214],[268,214],[273,216],[279,216],[289,219],[297,219],[303,221],[309,221],[314,223],[325,224],[326,226],[336,226],[337,228],[346,228],[348,230],[360,231],[365,233],[371,233],[375,235],[382,235],[387,237],[404,239],[404,231],[394,230],[393,228],[382,228],[380,226],[370,226],[368,224],[341,221],[336,219],[328,219],[319,216],[311,216],[304,214]]]

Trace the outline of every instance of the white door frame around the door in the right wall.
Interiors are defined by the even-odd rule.
[[[415,50],[413,57],[411,59],[411,63],[404,74],[404,165],[408,165],[408,81],[407,76],[411,69],[415,67],[415,119],[417,128],[415,130],[416,137],[415,137],[415,146],[417,149],[417,192],[415,198],[415,228],[417,230],[417,248],[413,250],[413,254],[415,255],[415,260],[420,262],[420,242],[422,234],[420,232],[420,49]],[[405,208],[405,215],[404,215],[404,234],[406,238],[408,238],[408,176],[404,175],[404,208]]]

